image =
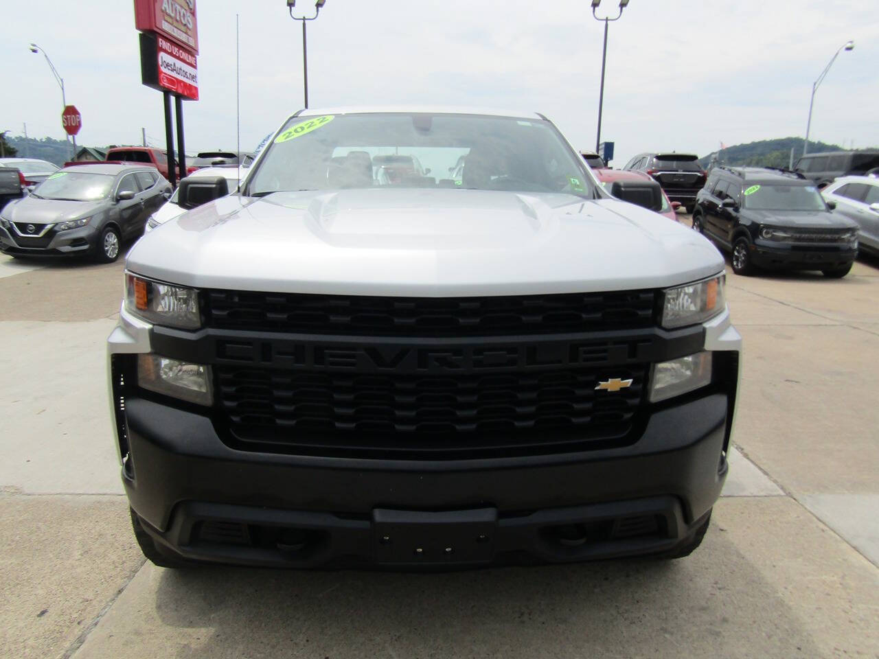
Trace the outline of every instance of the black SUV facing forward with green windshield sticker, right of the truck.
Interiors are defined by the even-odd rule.
[[[696,197],[693,228],[730,251],[740,275],[771,268],[845,277],[858,228],[833,207],[798,172],[720,166]]]

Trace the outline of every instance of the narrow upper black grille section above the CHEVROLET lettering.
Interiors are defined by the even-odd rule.
[[[643,329],[652,290],[475,298],[206,291],[207,327],[321,335],[473,337]]]

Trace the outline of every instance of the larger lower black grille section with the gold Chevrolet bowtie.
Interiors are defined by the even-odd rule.
[[[296,453],[554,453],[615,442],[634,423],[647,366],[454,375],[215,366],[218,405],[244,445]],[[632,380],[618,391],[602,380]]]

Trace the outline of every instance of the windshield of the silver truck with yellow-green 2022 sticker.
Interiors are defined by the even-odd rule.
[[[247,193],[389,187],[594,192],[548,121],[394,112],[290,119]]]

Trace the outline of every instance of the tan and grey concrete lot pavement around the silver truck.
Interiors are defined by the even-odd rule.
[[[737,450],[692,556],[440,575],[144,564],[105,392],[122,272],[0,256],[0,654],[879,656],[879,261],[728,268]]]

